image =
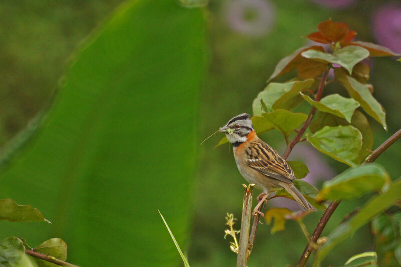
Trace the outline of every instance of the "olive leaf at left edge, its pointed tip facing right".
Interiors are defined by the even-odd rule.
[[[13,222],[23,221],[46,221],[42,213],[30,205],[20,206],[13,199],[0,199],[0,220],[8,220]]]

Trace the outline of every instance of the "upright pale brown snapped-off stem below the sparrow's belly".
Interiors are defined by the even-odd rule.
[[[240,239],[238,241],[238,256],[237,256],[237,267],[246,267],[249,254],[248,251],[248,239],[249,239],[249,228],[251,225],[251,209],[252,209],[252,191],[254,184],[248,186],[244,185],[244,201],[242,204],[242,216],[241,216],[241,230]]]

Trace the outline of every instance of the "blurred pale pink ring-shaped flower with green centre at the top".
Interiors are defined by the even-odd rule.
[[[226,19],[235,31],[261,36],[272,28],[275,10],[266,0],[235,0],[226,5]]]

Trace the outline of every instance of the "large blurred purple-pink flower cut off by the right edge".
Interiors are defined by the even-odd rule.
[[[401,53],[401,4],[381,6],[373,15],[372,31],[379,44]]]

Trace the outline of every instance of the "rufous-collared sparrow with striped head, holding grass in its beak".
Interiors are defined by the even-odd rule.
[[[229,120],[219,129],[233,145],[234,158],[241,175],[263,190],[263,198],[253,214],[272,190],[284,188],[305,210],[315,210],[292,182],[294,172],[288,163],[268,144],[259,139],[247,113]],[[258,212],[259,213],[259,212]]]

